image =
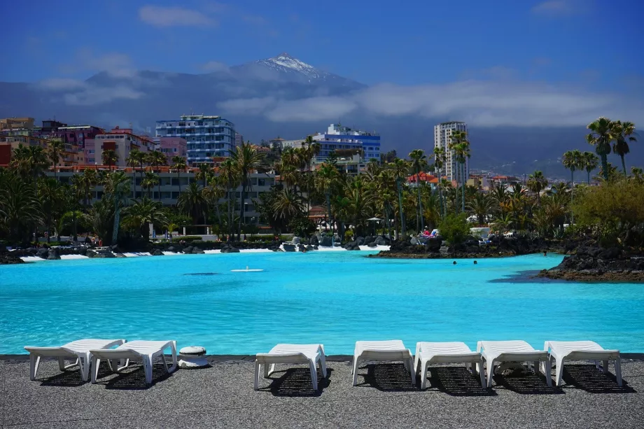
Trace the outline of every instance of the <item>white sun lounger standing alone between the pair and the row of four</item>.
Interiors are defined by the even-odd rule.
[[[322,344],[277,344],[268,353],[257,353],[255,358],[255,391],[259,389],[260,365],[264,366],[264,378],[275,370],[278,363],[309,364],[313,389],[318,390],[318,372],[316,365],[319,363],[322,376],[326,377],[326,358]],[[271,365],[270,370],[268,365]]]

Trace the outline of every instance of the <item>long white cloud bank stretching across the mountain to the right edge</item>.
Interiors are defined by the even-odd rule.
[[[459,118],[478,127],[580,126],[601,115],[644,120],[644,105],[636,97],[584,92],[570,85],[482,80],[447,85],[381,84],[346,97],[234,99],[219,103],[218,108],[231,115],[263,115],[274,122],[332,120],[349,113]]]

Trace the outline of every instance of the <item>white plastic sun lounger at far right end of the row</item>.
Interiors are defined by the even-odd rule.
[[[615,360],[615,378],[617,386],[622,386],[622,360],[619,350],[605,350],[594,341],[547,341],[543,349],[550,354],[550,364],[556,365],[556,385],[560,386],[563,380],[564,360],[594,360],[599,368],[599,361],[603,363],[604,374],[608,373],[608,361]]]

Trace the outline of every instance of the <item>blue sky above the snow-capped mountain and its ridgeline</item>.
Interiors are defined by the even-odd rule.
[[[201,73],[280,52],[367,84],[644,87],[637,0],[29,1],[3,10],[0,80]],[[5,59],[7,53],[5,53]],[[209,65],[208,65],[209,64]]]

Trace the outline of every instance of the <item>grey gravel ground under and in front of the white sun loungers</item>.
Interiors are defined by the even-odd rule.
[[[624,387],[593,365],[566,365],[562,388],[544,377],[495,377],[489,391],[464,367],[435,367],[424,392],[400,364],[365,365],[351,386],[346,357],[328,358],[321,393],[308,370],[293,367],[261,379],[253,358],[211,357],[202,370],[164,374],[145,384],[140,365],[99,384],[78,370],[41,363],[29,381],[24,356],[0,358],[2,428],[643,428],[644,360],[623,359]],[[612,370],[612,365],[610,367]]]

